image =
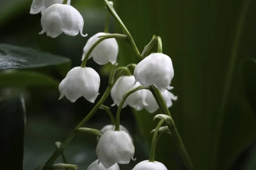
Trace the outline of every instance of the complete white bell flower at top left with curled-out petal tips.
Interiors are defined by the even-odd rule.
[[[41,17],[43,30],[39,34],[46,32],[47,36],[55,38],[62,32],[70,36],[76,36],[79,31],[81,36],[84,27],[84,19],[73,6],[55,3],[47,8]]]

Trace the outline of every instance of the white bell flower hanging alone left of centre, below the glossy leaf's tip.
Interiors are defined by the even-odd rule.
[[[99,84],[99,74],[92,68],[72,68],[59,85],[59,99],[66,96],[71,102],[75,102],[84,96],[89,102],[94,103],[99,94]]]

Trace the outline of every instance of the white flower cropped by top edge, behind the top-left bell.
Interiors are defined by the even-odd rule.
[[[30,14],[38,14],[41,12],[41,14],[44,14],[44,11],[55,3],[62,3],[63,0],[33,0],[31,7],[30,7]],[[67,5],[70,5],[71,0],[67,1]]]

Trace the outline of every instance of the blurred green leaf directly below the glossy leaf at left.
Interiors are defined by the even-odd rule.
[[[0,72],[0,88],[47,86],[58,88],[59,82],[34,71],[8,70]]]

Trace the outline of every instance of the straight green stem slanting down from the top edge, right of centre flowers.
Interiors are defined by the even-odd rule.
[[[127,35],[128,40],[129,40],[129,44],[131,45],[131,48],[134,49],[136,55],[138,58],[141,58],[140,56],[140,51],[138,50],[137,46],[135,45],[135,42],[133,40],[133,38],[131,37],[130,32],[128,31],[128,29],[125,27],[124,23],[122,22],[122,20],[119,18],[118,14],[116,14],[115,9],[113,8],[113,6],[111,6],[111,4],[108,2],[108,0],[104,0],[106,7],[108,8],[108,11],[112,14],[113,18],[116,20],[117,23],[119,23],[119,25],[122,28],[122,31],[124,32],[125,35]]]

